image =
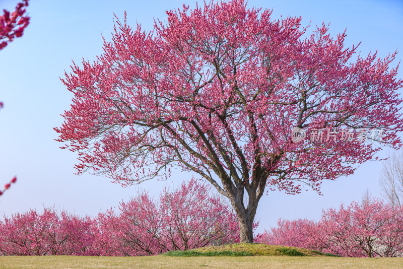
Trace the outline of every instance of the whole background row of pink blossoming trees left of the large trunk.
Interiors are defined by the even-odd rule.
[[[165,188],[157,202],[143,191],[96,218],[17,213],[0,222],[0,255],[141,256],[239,242],[236,215],[209,190],[191,179]]]

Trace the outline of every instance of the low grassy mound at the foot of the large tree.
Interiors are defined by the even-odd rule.
[[[276,246],[258,243],[228,244],[222,246],[206,246],[186,251],[170,251],[166,256],[322,256],[319,251],[305,248]]]

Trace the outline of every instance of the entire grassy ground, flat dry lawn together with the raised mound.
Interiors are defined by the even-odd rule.
[[[330,257],[303,248],[231,244],[148,257],[0,256],[3,268],[403,268],[403,258]]]

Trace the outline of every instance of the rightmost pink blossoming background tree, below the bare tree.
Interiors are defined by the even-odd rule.
[[[350,257],[403,255],[403,208],[372,199],[323,212],[316,227],[320,250]]]

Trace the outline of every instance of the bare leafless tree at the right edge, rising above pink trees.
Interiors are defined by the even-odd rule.
[[[387,201],[393,206],[403,206],[403,150],[389,154],[384,161],[379,184]]]

